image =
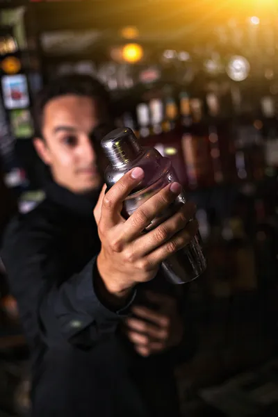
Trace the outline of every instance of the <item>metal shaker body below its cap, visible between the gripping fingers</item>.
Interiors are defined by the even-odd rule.
[[[133,167],[142,167],[145,177],[139,185],[124,201],[123,214],[129,217],[138,207],[147,201],[150,197],[158,193],[159,190],[177,180],[171,161],[159,154],[154,148],[142,148],[142,154],[135,161],[122,167],[122,170],[108,166],[106,169],[105,180],[108,188],[111,188],[126,172]],[[181,204],[185,204],[186,196],[182,191],[175,202],[170,207],[156,217],[151,224],[145,229],[149,231],[157,227],[158,224],[170,218]],[[199,277],[206,269],[206,258],[202,251],[201,237],[199,233],[193,240],[175,254],[170,255],[162,263],[163,272],[169,281],[173,284],[184,284]]]

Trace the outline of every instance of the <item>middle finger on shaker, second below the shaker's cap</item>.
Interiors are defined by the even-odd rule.
[[[181,192],[179,183],[171,183],[150,197],[126,220],[124,236],[126,241],[137,237],[158,215],[170,206]]]

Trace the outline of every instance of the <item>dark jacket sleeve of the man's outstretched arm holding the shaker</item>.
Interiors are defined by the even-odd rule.
[[[1,258],[31,343],[38,332],[51,343],[58,329],[67,341],[90,347],[115,332],[134,298],[118,311],[109,309],[95,288],[96,256],[79,273],[70,275],[48,231],[12,224]]]

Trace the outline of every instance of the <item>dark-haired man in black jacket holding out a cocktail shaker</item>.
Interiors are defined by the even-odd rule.
[[[142,234],[179,194],[174,183],[122,218],[144,172],[137,167],[101,190],[107,100],[89,76],[64,76],[42,90],[34,145],[51,173],[47,197],[6,236],[3,262],[33,359],[35,417],[178,414],[172,367],[190,346],[186,303],[158,269],[195,236],[195,208],[188,203]]]

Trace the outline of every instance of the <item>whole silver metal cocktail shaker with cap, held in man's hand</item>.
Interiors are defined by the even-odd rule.
[[[152,195],[158,193],[167,183],[177,181],[171,161],[161,156],[154,148],[140,147],[136,136],[128,128],[115,129],[108,133],[101,141],[101,147],[110,162],[105,172],[108,189],[133,167],[140,166],[145,172],[145,177],[138,188],[124,202],[124,211],[127,217]],[[157,227],[185,202],[186,196],[181,192],[176,202],[152,220],[146,231]],[[162,263],[162,268],[167,279],[173,284],[183,284],[201,275],[206,269],[206,259],[202,252],[199,234],[189,245],[165,260]]]

